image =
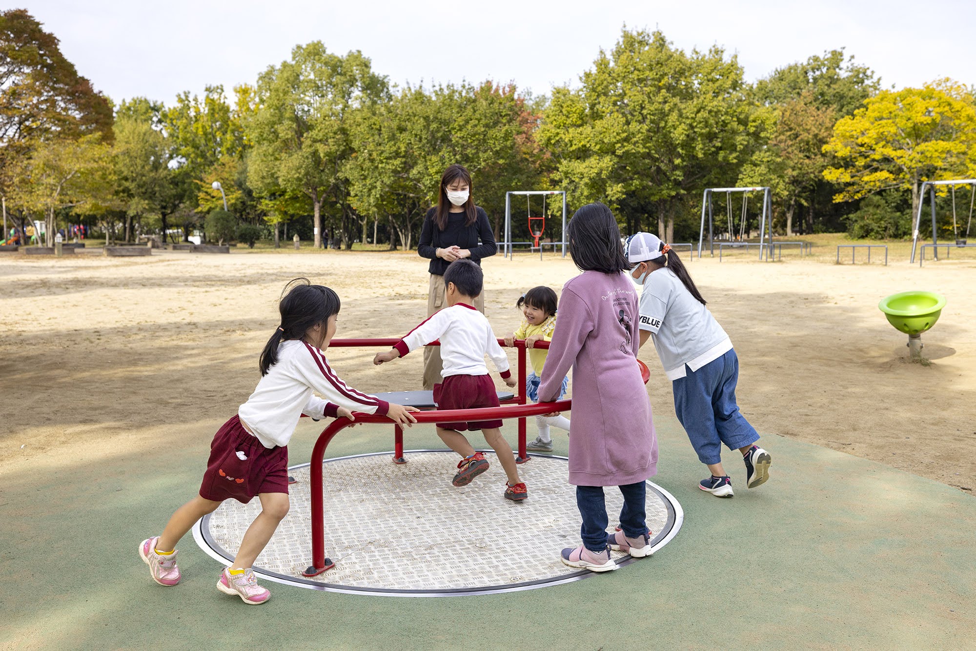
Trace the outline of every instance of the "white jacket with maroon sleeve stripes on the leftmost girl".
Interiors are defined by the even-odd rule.
[[[346,386],[315,346],[288,340],[278,346],[278,361],[237,410],[237,416],[264,447],[273,448],[288,445],[302,414],[314,419],[335,417],[337,407],[384,416],[389,403]]]

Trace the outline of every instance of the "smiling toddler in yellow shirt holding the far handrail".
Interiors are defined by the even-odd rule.
[[[529,362],[532,365],[532,373],[525,380],[525,395],[533,402],[539,402],[539,383],[542,381],[543,367],[549,354],[548,348],[536,348],[534,345],[536,342],[552,341],[556,305],[558,299],[551,288],[542,285],[533,287],[515,304],[525,317],[522,324],[518,326],[518,330],[505,338],[506,346],[511,346],[516,339],[525,340],[525,347],[529,350]],[[568,384],[569,376],[566,376],[562,379],[559,399],[566,395]],[[569,431],[569,419],[565,416],[537,416],[536,424],[539,426],[539,435],[526,446],[526,449],[535,452],[552,452],[549,426]]]

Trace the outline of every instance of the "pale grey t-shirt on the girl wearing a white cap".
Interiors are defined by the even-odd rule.
[[[697,371],[732,349],[708,307],[667,266],[648,273],[640,292],[641,330],[651,333],[669,380]]]

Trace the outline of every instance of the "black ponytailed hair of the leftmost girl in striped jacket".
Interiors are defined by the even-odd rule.
[[[289,339],[302,339],[309,328],[326,321],[339,313],[342,303],[339,295],[324,285],[312,285],[307,278],[295,278],[281,293],[278,311],[281,324],[264,345],[261,353],[261,374],[278,361],[278,346]]]

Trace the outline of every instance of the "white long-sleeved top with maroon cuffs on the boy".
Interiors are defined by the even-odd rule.
[[[442,378],[452,375],[488,375],[485,354],[495,362],[503,378],[508,378],[508,356],[498,345],[485,315],[471,305],[458,303],[431,314],[410,331],[394,348],[404,357],[411,350],[440,340],[440,358],[444,362]]]

